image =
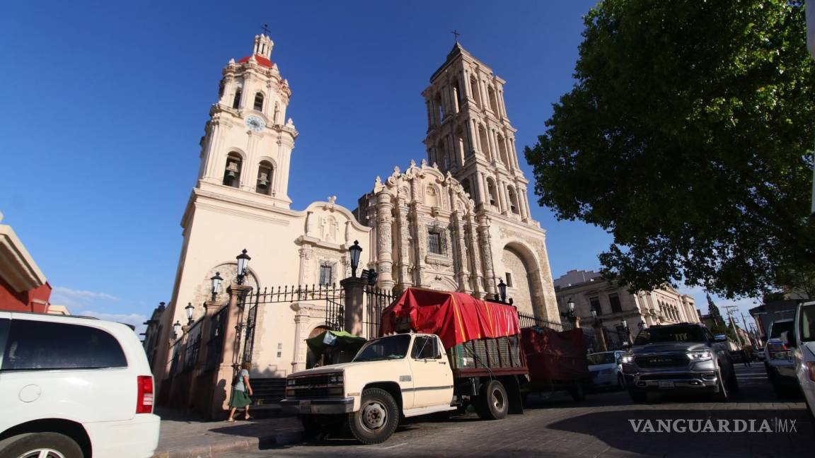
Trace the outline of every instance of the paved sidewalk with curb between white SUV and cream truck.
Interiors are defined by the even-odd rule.
[[[300,440],[302,427],[294,416],[249,421],[205,421],[180,412],[157,409],[161,435],[154,458],[210,458],[227,451],[259,450]]]

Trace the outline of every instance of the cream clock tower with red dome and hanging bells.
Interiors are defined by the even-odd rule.
[[[297,130],[286,119],[289,81],[271,61],[274,43],[254,37],[252,55],[223,69],[218,102],[201,138],[197,189],[289,209],[289,162]]]

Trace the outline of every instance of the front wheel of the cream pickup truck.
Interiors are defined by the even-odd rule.
[[[383,443],[399,425],[399,406],[394,397],[381,388],[362,392],[359,411],[348,414],[351,434],[361,443]]]

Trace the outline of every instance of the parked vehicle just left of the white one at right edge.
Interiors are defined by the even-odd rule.
[[[778,396],[798,393],[798,379],[795,377],[795,362],[792,360],[792,347],[781,338],[783,332],[792,331],[795,320],[777,319],[769,325],[767,345],[764,346],[764,369],[769,382]]]

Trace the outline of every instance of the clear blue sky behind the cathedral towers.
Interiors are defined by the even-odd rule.
[[[251,53],[262,24],[293,90],[293,208],[336,195],[353,209],[377,174],[425,157],[420,94],[453,29],[507,81],[522,154],[571,89],[594,3],[3,2],[3,223],[55,287],[52,302],[140,322],[170,297],[221,69]],[[553,275],[597,269],[611,237],[530,200]],[[690,293],[707,312],[704,293]]]

